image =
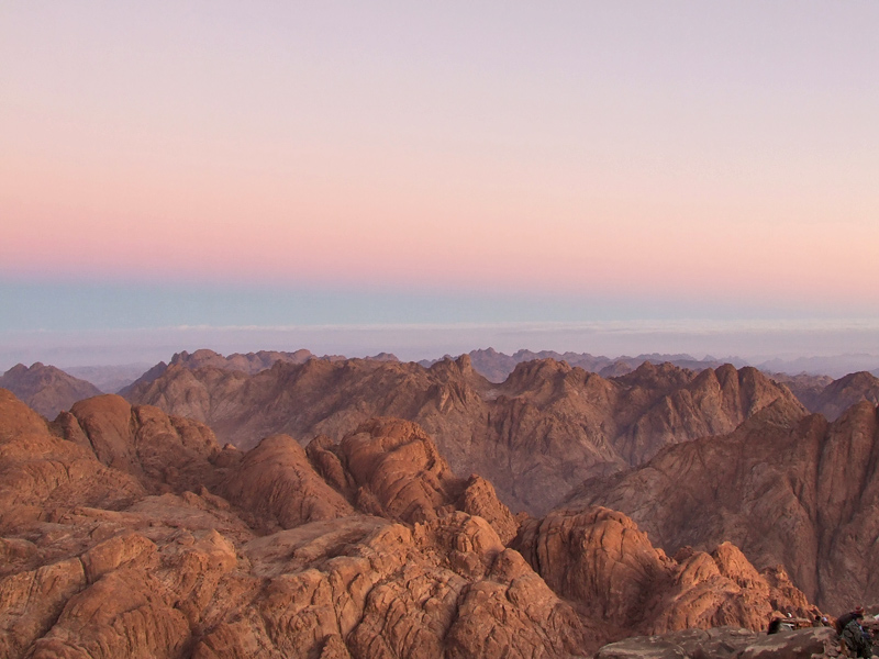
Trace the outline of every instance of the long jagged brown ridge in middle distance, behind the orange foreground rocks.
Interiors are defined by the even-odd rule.
[[[467,356],[418,364],[276,362],[248,376],[171,365],[127,393],[136,404],[209,424],[242,449],[282,433],[301,444],[342,436],[372,416],[419,423],[460,472],[491,480],[514,510],[548,511],[585,479],[649,459],[667,444],[728,433],[791,393],[753,368],[701,373],[645,362],[621,378],[542,359],[501,384]]]

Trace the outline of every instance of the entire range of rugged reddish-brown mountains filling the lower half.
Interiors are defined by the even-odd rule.
[[[0,656],[794,656],[756,630],[879,600],[877,383],[197,350],[0,390]]]

